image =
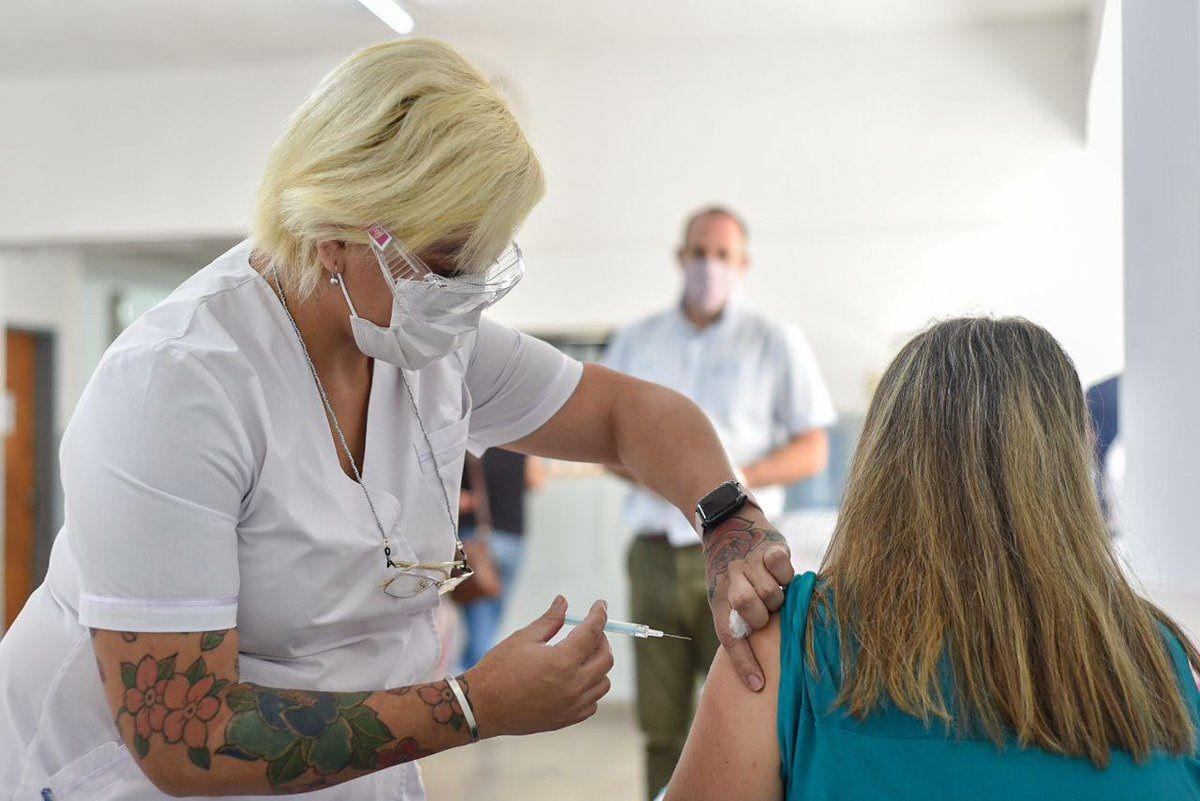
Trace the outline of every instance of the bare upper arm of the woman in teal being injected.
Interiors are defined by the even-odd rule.
[[[666,801],[780,801],[779,618],[750,636],[767,686],[748,692],[725,654],[718,652],[667,785]]]

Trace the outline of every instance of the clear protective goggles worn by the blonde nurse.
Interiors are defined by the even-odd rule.
[[[486,270],[444,276],[431,270],[382,225],[371,225],[366,231],[401,309],[425,323],[478,315],[509,294],[524,276],[524,259],[516,242]]]

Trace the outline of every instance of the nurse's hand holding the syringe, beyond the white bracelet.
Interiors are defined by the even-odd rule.
[[[596,601],[575,631],[548,645],[565,614],[566,600],[558,596],[546,614],[466,673],[480,736],[552,731],[595,715],[611,686],[612,645],[604,633],[608,609]]]

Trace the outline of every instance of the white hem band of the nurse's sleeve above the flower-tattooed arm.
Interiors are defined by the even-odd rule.
[[[238,625],[238,598],[112,598],[80,592],[79,622],[128,632],[221,631]]]

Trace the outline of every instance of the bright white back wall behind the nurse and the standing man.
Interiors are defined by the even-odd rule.
[[[497,317],[608,326],[671,301],[682,217],[742,209],[748,293],[803,324],[844,409],[932,317],[1021,313],[1120,367],[1120,175],[1084,137],[1082,18],[727,47],[464,43],[550,176]],[[241,230],[331,58],[0,83],[5,241]]]

